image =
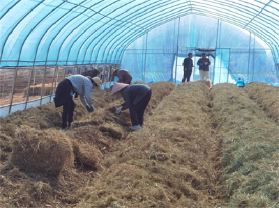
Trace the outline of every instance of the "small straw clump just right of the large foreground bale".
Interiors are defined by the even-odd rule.
[[[96,147],[93,147],[93,145],[80,143],[75,140],[71,140],[71,142],[73,144],[73,151],[77,165],[82,168],[98,170],[102,153],[97,150]]]

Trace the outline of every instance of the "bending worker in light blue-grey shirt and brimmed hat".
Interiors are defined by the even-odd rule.
[[[54,103],[56,108],[63,106],[63,131],[66,131],[70,127],[71,122],[73,122],[73,113],[75,109],[73,94],[75,94],[75,97],[80,95],[80,101],[84,104],[87,111],[89,113],[93,112],[94,107],[92,105],[91,90],[96,87],[98,88],[100,86],[100,82],[101,81],[98,77],[91,78],[83,77],[82,75],[73,75],[59,82],[55,92]]]

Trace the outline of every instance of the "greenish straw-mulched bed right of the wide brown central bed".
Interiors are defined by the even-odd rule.
[[[227,206],[278,207],[278,125],[242,88],[222,83],[210,94],[213,126],[223,143]]]

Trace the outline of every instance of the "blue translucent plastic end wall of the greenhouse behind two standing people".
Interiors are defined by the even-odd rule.
[[[214,49],[209,57],[213,84],[240,78],[279,86],[276,58],[265,42],[236,26],[199,15],[174,19],[135,40],[124,52],[121,68],[133,74],[134,81],[180,83],[181,58],[192,52],[195,67],[190,80],[195,81],[199,49]]]

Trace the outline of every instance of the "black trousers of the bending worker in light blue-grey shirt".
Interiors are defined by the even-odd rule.
[[[55,106],[60,107],[63,106],[62,113],[62,128],[67,127],[67,119],[70,127],[70,123],[73,122],[73,115],[75,110],[75,102],[73,101],[72,95],[70,95],[70,91],[72,90],[72,83],[68,79],[64,79],[61,81],[55,92]]]

